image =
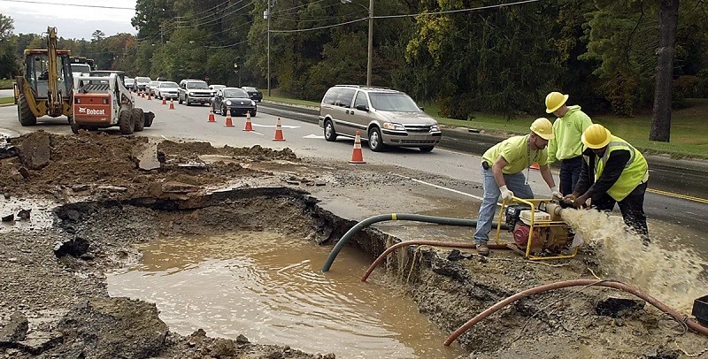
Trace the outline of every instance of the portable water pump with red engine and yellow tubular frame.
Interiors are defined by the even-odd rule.
[[[505,244],[529,260],[573,258],[578,246],[573,246],[575,235],[561,217],[563,210],[565,203],[562,206],[550,199],[512,197],[499,211],[496,244]],[[513,241],[500,239],[503,218]]]

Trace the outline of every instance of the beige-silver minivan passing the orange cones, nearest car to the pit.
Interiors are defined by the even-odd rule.
[[[319,126],[327,141],[338,135],[354,137],[360,131],[369,148],[417,147],[430,152],[443,133],[435,118],[423,112],[401,91],[358,85],[329,88],[319,103]]]

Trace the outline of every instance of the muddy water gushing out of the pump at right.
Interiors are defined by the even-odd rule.
[[[620,216],[597,210],[563,210],[561,216],[599,259],[604,279],[636,286],[674,309],[690,312],[708,289],[703,260],[650,228],[651,243],[627,230]]]

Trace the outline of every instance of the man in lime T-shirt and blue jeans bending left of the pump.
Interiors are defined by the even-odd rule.
[[[553,125],[548,118],[536,118],[531,124],[531,133],[514,136],[487,149],[481,157],[481,174],[484,198],[477,216],[477,230],[474,243],[481,256],[489,256],[489,231],[496,212],[496,200],[499,195],[503,201],[512,196],[534,198],[528,186],[528,169],[531,164],[538,164],[541,177],[550,188],[551,195],[562,197],[558,192],[553,175],[548,168],[546,146],[553,139]],[[524,169],[527,175],[524,176]]]

